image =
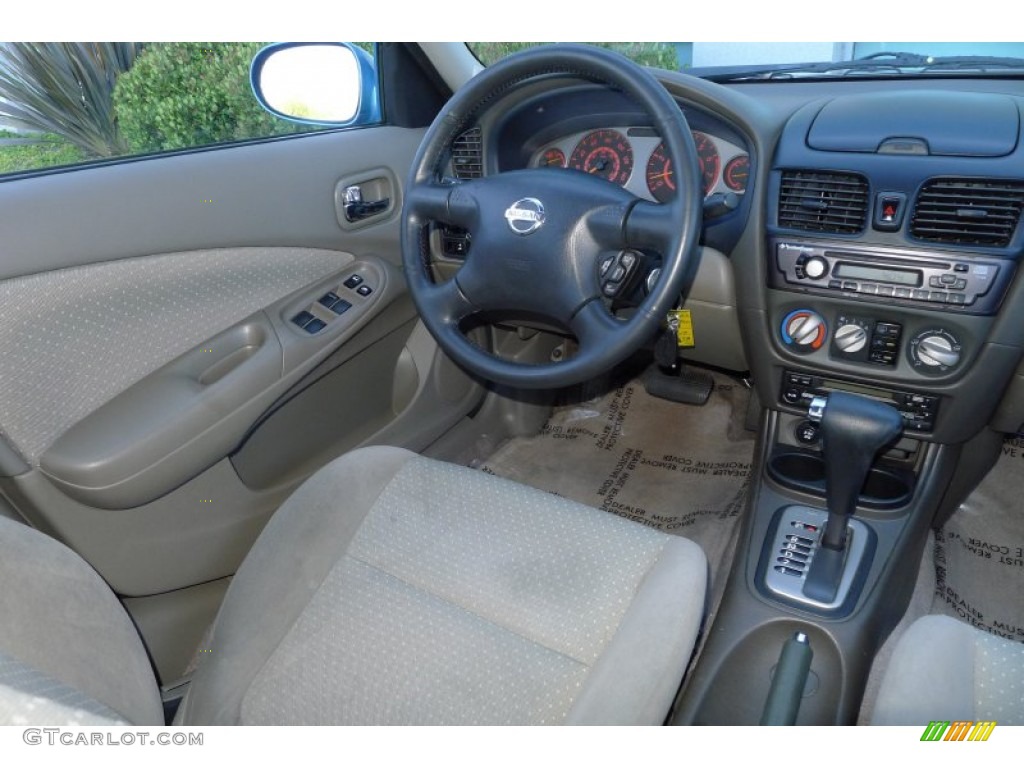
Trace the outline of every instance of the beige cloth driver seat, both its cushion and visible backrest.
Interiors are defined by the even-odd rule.
[[[0,723],[161,725],[127,614],[67,547],[0,520]],[[693,649],[692,542],[393,447],[274,514],[176,724],[660,724]]]

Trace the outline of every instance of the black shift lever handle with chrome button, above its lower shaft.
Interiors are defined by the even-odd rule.
[[[824,547],[846,546],[847,521],[857,509],[874,456],[899,436],[903,420],[892,406],[868,397],[831,392],[824,402],[814,398],[809,415],[821,426],[825,460],[825,503],[828,522],[821,538]]]

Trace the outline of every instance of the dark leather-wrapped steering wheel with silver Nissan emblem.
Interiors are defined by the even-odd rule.
[[[547,81],[563,86],[565,78],[611,86],[646,113],[675,165],[672,200],[647,202],[610,181],[559,169],[517,170],[469,181],[443,178],[453,139],[487,109],[517,88]],[[647,342],[674,306],[696,263],[702,201],[686,119],[653,76],[601,48],[532,48],[466,83],[424,136],[402,209],[409,290],[440,347],[471,373],[531,389],[586,381]],[[444,283],[430,278],[430,222],[462,227],[472,242],[459,271]],[[608,254],[625,249],[655,251],[663,262],[651,292],[632,316],[621,321],[602,300],[599,269]],[[579,351],[543,365],[503,359],[462,330],[467,318],[481,312],[554,321],[575,336]]]

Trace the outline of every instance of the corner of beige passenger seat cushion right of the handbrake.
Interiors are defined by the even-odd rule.
[[[893,651],[871,722],[933,720],[1024,725],[1024,644],[949,616],[910,625]]]

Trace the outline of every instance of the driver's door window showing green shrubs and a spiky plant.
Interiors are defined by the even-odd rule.
[[[266,45],[0,44],[0,174],[341,124],[303,119],[288,110],[270,114],[260,105],[250,67]],[[375,78],[374,45],[348,47]],[[312,79],[322,87],[332,84],[332,73],[315,74]],[[305,75],[308,93],[308,70]],[[375,80],[372,85],[373,103],[364,104],[356,116],[360,123],[380,119]],[[300,113],[307,109],[303,103],[292,105]]]

